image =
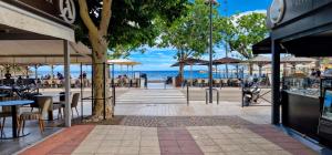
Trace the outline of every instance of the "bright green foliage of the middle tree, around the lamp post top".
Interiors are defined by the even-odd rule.
[[[209,46],[209,14],[210,8],[205,0],[195,0],[186,4],[186,12],[175,20],[167,29],[163,28],[162,42],[159,46],[173,46],[178,50],[175,59],[184,60],[187,58],[199,58],[205,54]],[[212,8],[212,42],[220,41],[221,35],[218,32],[220,27],[217,24],[219,14],[216,7]]]

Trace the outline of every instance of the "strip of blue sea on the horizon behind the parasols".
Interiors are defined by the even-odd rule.
[[[92,72],[85,71],[89,79],[91,79]],[[56,71],[53,72],[54,75],[56,75]],[[60,72],[63,74],[63,72]],[[50,71],[38,71],[39,78],[44,76],[46,74],[51,74]],[[71,76],[76,79],[81,74],[80,71],[71,71]],[[120,75],[127,75],[128,78],[138,78],[139,74],[146,74],[147,79],[149,81],[165,81],[167,78],[176,76],[178,75],[178,71],[114,71],[114,76],[117,78]],[[112,76],[112,72],[111,72]],[[242,74],[240,73],[239,76],[241,78]],[[208,72],[207,71],[185,71],[184,72],[185,79],[208,79]],[[214,72],[215,79],[222,79],[226,78],[225,72]],[[228,78],[237,78],[235,72],[229,72]]]

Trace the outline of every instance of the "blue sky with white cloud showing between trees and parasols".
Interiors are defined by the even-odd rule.
[[[256,10],[266,10],[271,3],[271,0],[218,0],[220,7],[218,8],[219,12],[224,16],[231,16],[235,13],[246,12],[246,11],[256,11]],[[225,7],[227,8],[227,13],[224,11]],[[225,56],[225,51],[221,49],[214,49],[216,51],[216,58]],[[142,62],[141,65],[135,66],[136,71],[177,71],[178,68],[170,68],[174,60],[176,50],[174,49],[158,49],[158,48],[147,48],[147,51],[142,54],[139,52],[133,52],[129,59]],[[208,59],[207,55],[204,55],[203,59]],[[71,68],[73,71],[79,71],[77,66]],[[115,68],[120,70],[120,66]],[[206,66],[195,66],[196,70],[207,70]],[[40,70],[49,71],[49,66],[41,68]],[[55,68],[55,71],[61,71],[62,68]]]

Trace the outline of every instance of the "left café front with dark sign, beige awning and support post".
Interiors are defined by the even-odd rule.
[[[71,126],[70,51],[75,49],[75,17],[73,0],[0,0],[1,59],[63,59],[66,126]]]

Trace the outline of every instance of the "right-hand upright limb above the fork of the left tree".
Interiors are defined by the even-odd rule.
[[[112,17],[112,1],[113,0],[103,0],[103,11],[102,11],[102,21],[100,23],[100,32],[103,35],[107,34],[111,17]]]

